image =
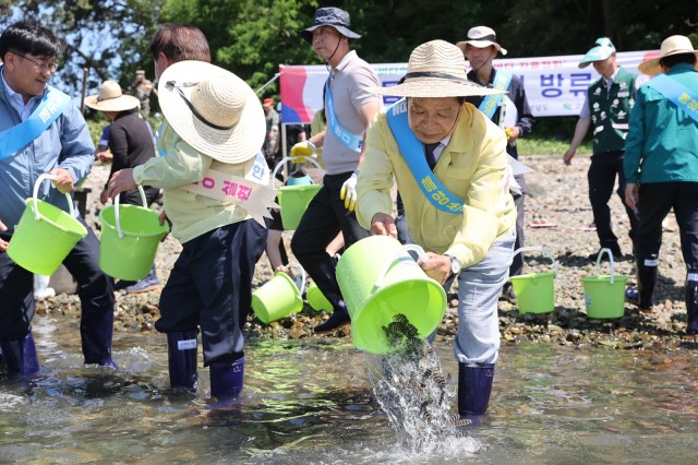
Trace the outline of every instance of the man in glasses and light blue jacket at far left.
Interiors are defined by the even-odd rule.
[[[15,225],[39,178],[51,175],[53,179],[52,184],[38,187],[37,200],[68,212],[70,192],[94,163],[95,145],[80,109],[70,96],[47,84],[58,68],[61,48],[62,41],[35,21],[16,22],[0,36],[0,218],[8,227],[0,237],[10,247],[20,239],[20,235],[13,239]],[[74,216],[86,236],[62,263],[77,281],[85,363],[116,367],[112,282],[99,269],[97,237],[77,212]],[[33,273],[0,253],[0,346],[13,372],[32,373],[39,368],[32,336],[33,287]]]

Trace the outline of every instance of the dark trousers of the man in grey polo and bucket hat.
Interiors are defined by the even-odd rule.
[[[341,184],[350,176],[351,172],[325,175],[323,187],[308,205],[291,239],[293,254],[335,309],[342,307],[344,301],[335,276],[336,262],[325,248],[339,231],[344,234],[345,248],[369,237],[369,231],[359,226],[356,214],[339,198]]]

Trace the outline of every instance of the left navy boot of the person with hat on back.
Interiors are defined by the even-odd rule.
[[[196,330],[167,333],[170,386],[196,390]]]

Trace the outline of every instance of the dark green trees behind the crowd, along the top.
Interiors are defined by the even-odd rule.
[[[698,0],[0,0],[0,27],[36,17],[63,37],[53,82],[75,96],[83,83],[94,93],[106,79],[128,91],[137,69],[153,78],[148,41],[166,23],[200,27],[213,61],[260,88],[279,64],[318,63],[299,32],[317,7],[328,5],[350,12],[352,29],[363,36],[353,47],[375,63],[407,61],[417,45],[462,40],[481,24],[497,32],[507,58],[582,53],[600,36],[618,50],[657,49],[673,34],[698,46]],[[277,94],[275,83],[261,97]],[[541,118],[535,134],[568,141],[575,121]]]

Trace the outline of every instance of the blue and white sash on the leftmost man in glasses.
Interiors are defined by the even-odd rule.
[[[53,123],[70,104],[70,97],[56,88],[49,88],[41,103],[32,115],[20,124],[0,133],[0,159],[14,155],[17,151]]]

